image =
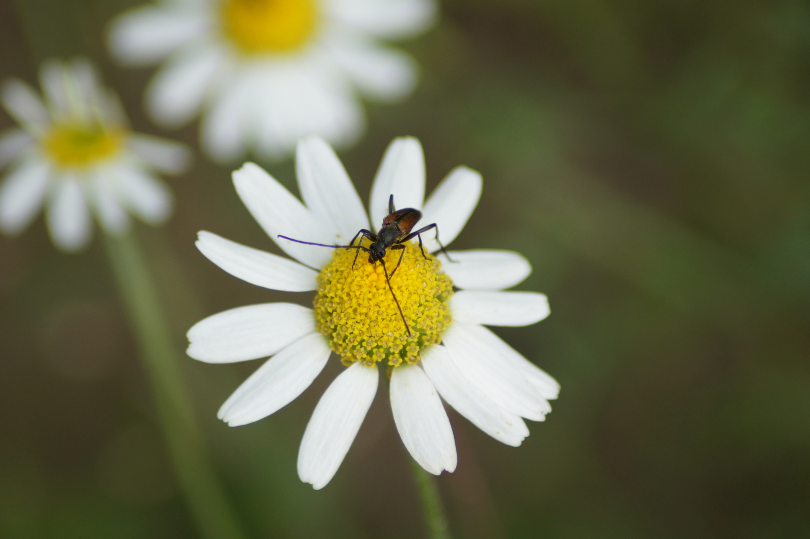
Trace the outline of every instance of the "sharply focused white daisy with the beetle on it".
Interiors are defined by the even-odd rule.
[[[268,289],[316,291],[313,309],[292,303],[238,307],[189,330],[188,354],[200,361],[271,356],[222,405],[220,419],[239,426],[275,413],[309,387],[335,352],[347,369],[318,402],[298,454],[299,476],[315,489],[326,486],[352,445],[377,391],[377,365],[388,369],[400,437],[428,472],[456,467],[453,431],[440,396],[485,433],[519,446],[529,434],[522,418],[543,421],[560,387],[484,326],[526,326],[548,316],[543,294],[503,291],[529,275],[526,259],[509,250],[434,256],[429,252],[440,246],[428,231],[422,237],[424,256],[415,242],[388,250],[388,268],[403,256],[389,289],[382,264],[370,263],[364,252],[355,263],[357,250],[278,237],[347,245],[358,230],[382,225],[394,195],[398,207],[422,212],[420,224],[437,223],[447,244],[478,203],[480,174],[460,166],[424,201],[420,143],[394,139],[374,179],[371,220],[322,139],[298,144],[296,175],[303,203],[252,163],[233,173],[233,183],[259,225],[298,262],[199,233],[199,250],[233,276]]]

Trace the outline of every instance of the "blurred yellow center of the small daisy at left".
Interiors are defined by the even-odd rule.
[[[121,149],[124,132],[101,125],[56,123],[45,134],[45,152],[62,167],[83,167],[107,159]]]

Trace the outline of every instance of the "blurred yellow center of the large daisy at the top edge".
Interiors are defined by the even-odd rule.
[[[245,53],[300,49],[317,22],[314,0],[224,0],[226,36]]]

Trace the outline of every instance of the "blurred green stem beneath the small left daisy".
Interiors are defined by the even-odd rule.
[[[169,456],[200,536],[241,539],[236,515],[215,477],[194,419],[177,348],[143,251],[133,233],[105,235],[105,247],[138,340]]]

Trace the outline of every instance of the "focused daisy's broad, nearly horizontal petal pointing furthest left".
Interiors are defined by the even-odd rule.
[[[315,332],[311,309],[293,303],[262,303],[225,310],[194,324],[186,333],[190,357],[232,363],[272,356]]]

